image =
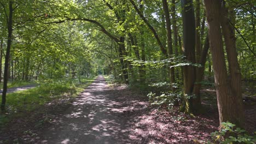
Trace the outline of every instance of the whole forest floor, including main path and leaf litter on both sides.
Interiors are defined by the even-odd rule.
[[[188,116],[158,109],[144,95],[127,86],[109,87],[99,76],[78,97],[14,119],[0,130],[0,143],[205,143],[218,130],[214,109]],[[249,109],[251,124],[254,110]]]

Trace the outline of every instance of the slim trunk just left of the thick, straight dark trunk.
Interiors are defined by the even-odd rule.
[[[169,8],[168,8],[168,3],[167,0],[162,0],[162,6],[164,8],[164,13],[165,13],[165,21],[166,21],[166,31],[167,31],[167,51],[168,51],[168,57],[171,58],[173,51],[172,51],[172,30],[171,30],[171,20],[170,20],[170,13],[169,13]],[[172,64],[170,64],[171,66]],[[175,82],[175,72],[174,68],[168,68],[169,73],[170,73],[170,79],[171,79],[171,86],[172,83]],[[175,88],[172,87],[172,92],[175,91]]]

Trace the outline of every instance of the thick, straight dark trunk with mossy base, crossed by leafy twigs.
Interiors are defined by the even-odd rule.
[[[192,0],[181,0],[183,17],[183,46],[185,59],[195,63],[195,16]],[[193,88],[195,83],[195,67],[186,65],[183,69],[184,95],[182,111],[191,113],[193,108]]]

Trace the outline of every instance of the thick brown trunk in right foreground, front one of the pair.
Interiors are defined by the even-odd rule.
[[[233,95],[234,92],[232,91],[234,91],[234,85],[230,84],[228,71],[226,70],[222,33],[220,29],[220,20],[222,20],[221,1],[205,0],[204,2],[208,21],[210,50],[212,53],[214,79],[219,110],[219,122],[222,123],[229,121],[231,123],[237,124],[238,127],[242,127],[243,115],[239,113],[242,111],[242,107],[237,105],[239,104],[238,100],[240,99],[237,99],[237,97]],[[226,41],[226,43],[229,42]],[[232,49],[234,50],[234,48]],[[234,61],[234,59],[231,59],[231,61]],[[235,73],[237,73],[237,71],[235,71]]]

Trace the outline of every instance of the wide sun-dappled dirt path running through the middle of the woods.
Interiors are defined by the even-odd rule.
[[[118,89],[110,89],[104,77],[98,76],[51,127],[43,130],[36,143],[130,143],[119,95]]]

